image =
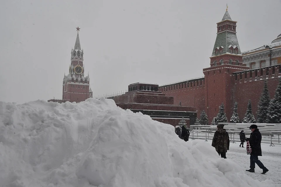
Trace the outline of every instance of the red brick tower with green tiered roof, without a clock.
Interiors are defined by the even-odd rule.
[[[236,36],[236,21],[232,21],[226,9],[222,21],[217,23],[217,38],[209,68],[203,69],[205,75],[205,109],[209,121],[224,103],[227,118],[230,119],[233,106],[232,73],[247,70],[243,64],[240,47]]]

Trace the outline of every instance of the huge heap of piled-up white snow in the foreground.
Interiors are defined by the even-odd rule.
[[[113,100],[0,102],[0,186],[270,186]]]

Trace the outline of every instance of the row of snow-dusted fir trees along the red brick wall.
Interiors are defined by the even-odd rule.
[[[261,94],[260,101],[258,103],[258,110],[256,113],[257,119],[255,119],[252,112],[251,99],[248,102],[247,111],[242,123],[281,123],[281,79],[275,90],[274,98],[270,100],[267,81],[264,82],[263,92]],[[215,119],[211,122],[211,125],[217,123],[227,123],[227,117],[225,114],[225,106],[222,103],[220,110],[217,114],[216,122]],[[233,114],[230,118],[230,123],[241,123],[237,112],[237,102],[234,103]],[[196,118],[195,125],[208,125],[208,116],[203,110],[200,115],[200,119]]]

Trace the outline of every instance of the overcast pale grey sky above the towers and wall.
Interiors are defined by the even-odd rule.
[[[94,96],[202,77],[227,3],[241,51],[281,33],[280,0],[2,1],[0,101],[61,99],[77,26]]]

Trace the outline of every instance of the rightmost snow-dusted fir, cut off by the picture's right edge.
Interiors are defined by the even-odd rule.
[[[280,123],[281,122],[281,79],[275,90],[274,98],[271,99],[268,108],[268,123]]]

